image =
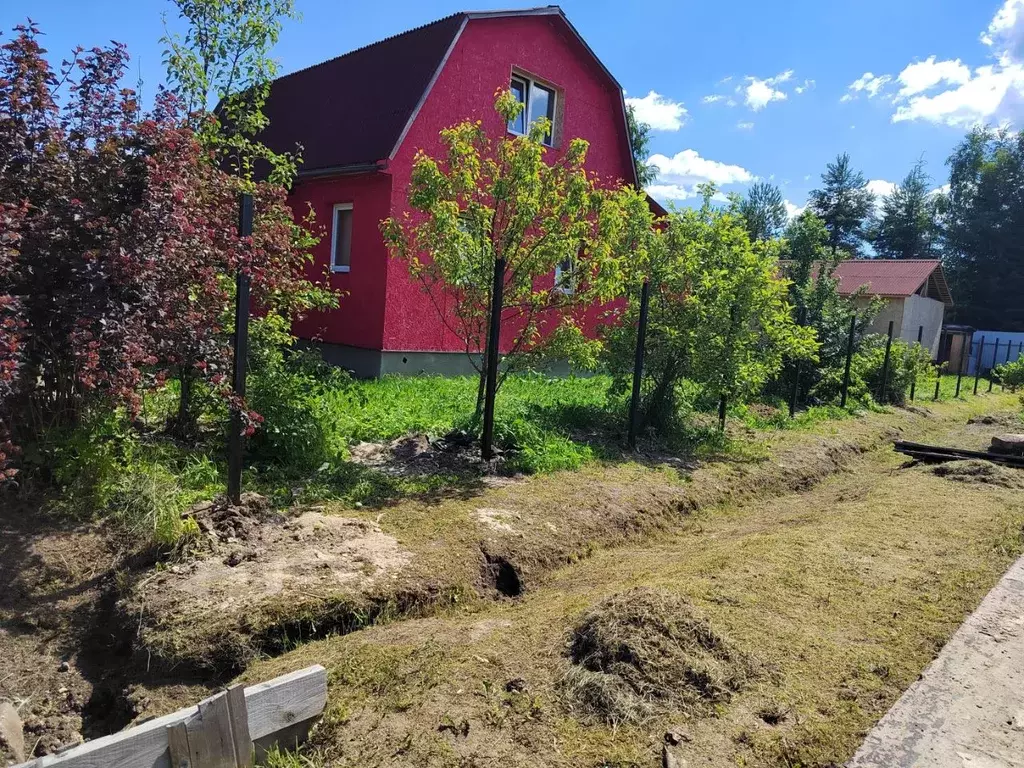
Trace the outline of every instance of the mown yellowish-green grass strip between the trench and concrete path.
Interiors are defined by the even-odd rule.
[[[929,406],[933,416],[914,417],[915,436],[980,447],[993,428],[968,425],[968,417],[1016,406],[1009,394]],[[872,414],[813,430],[854,434],[876,421],[905,429],[907,418]],[[810,489],[740,494],[639,541],[597,548],[517,600],[306,643],[257,663],[245,678],[328,667],[330,709],[314,744],[330,765],[655,766],[668,731],[679,734],[672,751],[689,765],[840,765],[1024,548],[1020,490],[902,463],[877,447]],[[618,469],[584,474],[596,488],[605,471],[624,482]],[[500,488],[472,506],[550,506],[579,495],[578,474]],[[643,504],[635,493],[630,503]],[[425,509],[404,534],[401,524],[393,529],[427,553],[431,525],[437,537],[453,505],[466,503]],[[630,625],[628,637],[642,640],[692,611],[709,636],[746,659],[742,684],[697,703],[657,698],[652,684],[640,691],[649,706],[626,720],[609,718],[623,711],[615,696],[625,690],[613,667],[599,675],[604,693],[581,692],[569,653],[581,622],[609,598],[646,593],[660,596],[652,611],[664,604],[676,615]]]

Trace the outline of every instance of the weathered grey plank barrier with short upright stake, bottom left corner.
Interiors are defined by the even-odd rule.
[[[290,732],[326,706],[327,670],[315,665],[15,768],[249,768],[253,741]]]

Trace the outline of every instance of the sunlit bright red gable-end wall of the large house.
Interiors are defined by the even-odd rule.
[[[561,142],[549,151],[549,158],[558,158],[566,140],[579,136],[590,141],[587,167],[591,171],[609,182],[632,180],[621,96],[564,23],[556,16],[474,19],[467,23],[391,164],[391,205],[396,213],[408,209],[413,157],[418,150],[440,156],[443,147],[438,132],[442,128],[472,119],[483,121],[493,136],[505,133],[504,123],[495,114],[494,94],[508,87],[513,68],[552,83],[561,93]],[[461,351],[459,339],[437,318],[406,265],[392,260],[387,268],[384,348]],[[505,331],[503,346],[514,329]]]

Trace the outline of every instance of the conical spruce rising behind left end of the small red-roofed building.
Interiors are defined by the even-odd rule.
[[[874,195],[867,188],[864,174],[853,170],[850,156],[845,153],[827,165],[821,182],[821,188],[810,195],[810,209],[825,222],[833,253],[843,251],[856,256],[874,207]]]

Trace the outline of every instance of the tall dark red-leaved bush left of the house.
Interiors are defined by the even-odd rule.
[[[32,26],[0,46],[0,471],[11,440],[134,411],[170,375],[226,391],[238,270],[262,310],[330,302],[285,189],[225,173],[172,95],[143,114],[127,61],[113,44],[54,73]]]

